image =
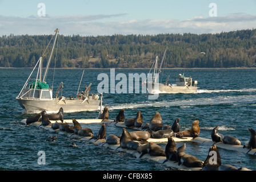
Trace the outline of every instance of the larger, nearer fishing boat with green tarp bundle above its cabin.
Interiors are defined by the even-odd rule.
[[[55,34],[50,40],[50,42],[53,40],[53,46],[51,48],[51,51],[49,51],[50,56],[49,56],[49,60],[47,61],[47,65],[46,65],[43,76],[42,76],[43,57],[46,55],[47,48],[49,47],[50,42],[46,47],[45,52],[43,52],[43,55],[37,61],[37,64],[35,64],[33,71],[30,73],[29,78],[27,78],[27,81],[23,86],[23,88],[21,89],[21,92],[19,92],[18,96],[16,97],[16,100],[19,102],[19,105],[21,105],[21,107],[26,110],[27,113],[37,113],[38,111],[42,111],[42,110],[56,112],[56,111],[59,111],[61,107],[63,108],[64,112],[93,111],[93,110],[100,110],[101,112],[102,94],[100,94],[101,96],[100,100],[99,100],[99,94],[91,94],[91,96],[89,96],[91,83],[89,84],[89,86],[86,88],[84,92],[79,93],[79,87],[80,87],[82,78],[78,87],[77,96],[75,97],[71,97],[71,96],[58,97],[59,92],[63,88],[63,82],[61,82],[55,94],[53,94],[53,88],[50,89],[49,85],[46,83],[45,79],[47,76],[47,72],[49,70],[51,56],[53,54],[55,43],[58,37],[58,32],[59,32],[59,29],[57,28],[55,30]],[[35,79],[32,79],[31,75],[33,75],[33,72],[35,71],[36,68],[38,68],[37,77]]]

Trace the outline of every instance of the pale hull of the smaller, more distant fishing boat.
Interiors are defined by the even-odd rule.
[[[147,91],[150,94],[159,94],[159,93],[195,93],[197,92],[197,86],[171,86],[164,84],[150,83],[151,85],[147,86]]]

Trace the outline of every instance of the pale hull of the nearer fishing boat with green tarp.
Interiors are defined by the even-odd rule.
[[[26,109],[27,113],[37,113],[38,111],[47,110],[58,112],[62,107],[64,112],[93,111],[99,110],[101,100],[31,100],[17,98],[19,105]],[[82,103],[83,102],[83,103]]]

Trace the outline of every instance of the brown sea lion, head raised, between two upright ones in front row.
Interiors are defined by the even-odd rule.
[[[202,167],[203,161],[199,160],[197,157],[193,155],[189,155],[185,153],[186,143],[184,143],[181,147],[177,149],[177,159],[178,165],[183,164],[186,167]]]

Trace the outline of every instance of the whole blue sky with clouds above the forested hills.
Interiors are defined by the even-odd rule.
[[[0,36],[216,34],[256,28],[255,0],[0,0]]]

